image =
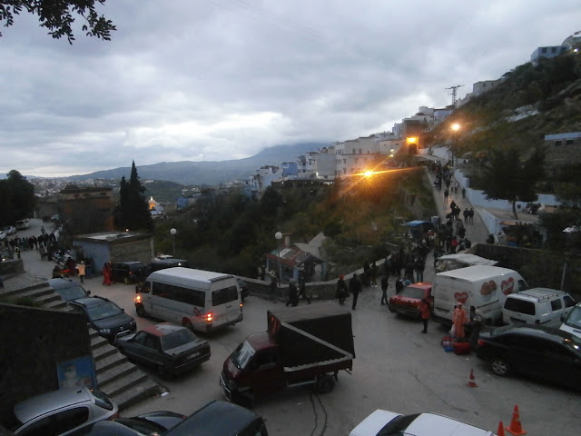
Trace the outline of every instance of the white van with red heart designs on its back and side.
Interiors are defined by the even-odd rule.
[[[507,295],[525,289],[527,282],[518,272],[498,266],[476,265],[438,272],[432,287],[434,320],[451,325],[454,306],[461,302],[467,314],[474,306],[487,324],[499,324]]]

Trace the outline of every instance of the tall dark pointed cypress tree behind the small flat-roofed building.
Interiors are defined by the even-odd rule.
[[[129,182],[126,182],[123,176],[120,183],[119,204],[113,212],[117,228],[153,232],[152,213],[149,211],[144,192],[145,188],[139,181],[137,168],[133,162]]]

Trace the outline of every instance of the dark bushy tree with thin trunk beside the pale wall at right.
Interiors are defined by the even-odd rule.
[[[544,161],[545,155],[540,147],[527,160],[523,160],[515,148],[493,150],[480,180],[484,193],[488,199],[512,203],[512,213],[517,220],[517,201],[537,200],[537,183],[544,176]]]

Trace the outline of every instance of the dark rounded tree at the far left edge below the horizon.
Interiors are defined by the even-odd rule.
[[[26,180],[21,173],[12,170],[0,180],[0,222],[13,224],[16,220],[30,216],[36,205],[34,185]]]

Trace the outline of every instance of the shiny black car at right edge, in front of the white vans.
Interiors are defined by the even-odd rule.
[[[520,372],[581,389],[581,339],[535,324],[509,324],[480,332],[477,356],[492,372]]]

